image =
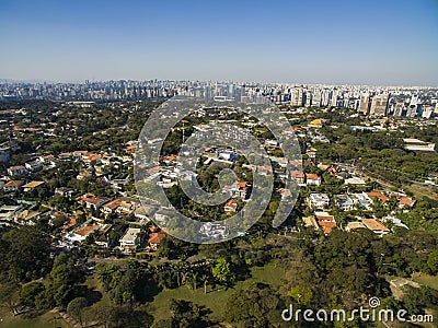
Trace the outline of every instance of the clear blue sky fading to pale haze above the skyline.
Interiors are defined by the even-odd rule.
[[[0,0],[0,79],[438,85],[438,0]]]

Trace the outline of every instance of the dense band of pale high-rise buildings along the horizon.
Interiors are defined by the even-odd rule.
[[[370,116],[438,116],[438,87],[159,80],[84,83],[0,81],[0,99],[114,101],[166,98],[178,94],[207,98],[216,95],[244,103],[262,103],[267,97],[276,104],[353,108]]]

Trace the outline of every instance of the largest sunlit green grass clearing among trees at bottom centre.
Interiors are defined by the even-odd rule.
[[[274,263],[268,263],[263,268],[252,268],[251,276],[252,278],[243,282],[238,282],[232,289],[220,288],[218,290],[211,290],[211,288],[208,286],[207,294],[204,293],[203,285],[199,285],[196,291],[193,291],[185,285],[174,290],[164,290],[153,298],[153,302],[147,305],[147,309],[151,315],[153,315],[155,320],[169,318],[169,301],[171,298],[181,298],[192,301],[209,308],[212,312],[210,319],[220,320],[223,318],[224,304],[228,297],[235,290],[254,282],[264,282],[274,288],[278,288],[280,284],[280,277],[285,276],[285,268],[277,267]]]

